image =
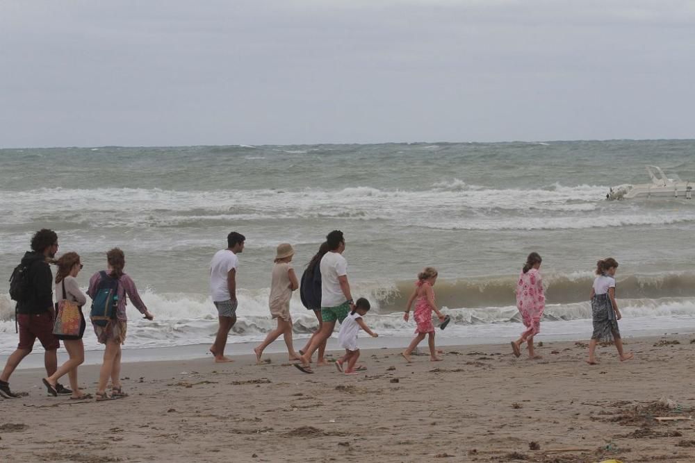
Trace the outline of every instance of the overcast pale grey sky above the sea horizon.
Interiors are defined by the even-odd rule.
[[[0,1],[0,147],[693,138],[695,1]]]

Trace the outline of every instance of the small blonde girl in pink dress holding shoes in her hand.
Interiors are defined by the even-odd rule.
[[[440,357],[436,356],[436,350],[434,348],[434,326],[432,325],[432,310],[436,313],[440,320],[444,319],[444,316],[439,312],[439,309],[434,303],[434,290],[432,287],[436,283],[437,271],[433,267],[425,267],[425,269],[418,275],[418,281],[415,283],[415,290],[408,299],[408,305],[405,309],[405,314],[403,319],[408,321],[410,318],[410,307],[415,303],[415,312],[413,318],[417,323],[417,328],[415,332],[417,336],[412,340],[408,348],[403,351],[402,355],[408,362],[413,360],[410,354],[413,350],[420,344],[420,341],[425,339],[425,335],[429,335],[427,339],[427,344],[430,345],[430,360],[432,362],[439,362]],[[416,300],[417,299],[417,300]]]

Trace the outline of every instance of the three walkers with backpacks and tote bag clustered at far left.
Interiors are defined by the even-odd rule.
[[[105,345],[104,360],[99,371],[99,385],[95,395],[92,396],[80,389],[77,378],[77,368],[84,362],[82,338],[87,327],[82,312],[87,297],[81,292],[76,280],[83,269],[83,264],[79,254],[75,252],[65,253],[58,260],[54,260],[57,252],[58,235],[46,228],[39,230],[31,239],[31,251],[24,254],[22,262],[13,273],[10,295],[17,301],[15,320],[19,332],[19,344],[8,357],[0,373],[0,396],[17,397],[17,394],[10,389],[10,376],[24,357],[31,353],[38,339],[45,351],[44,366],[47,376],[42,382],[48,394],[69,395],[74,400],[96,398],[97,401],[126,397],[128,394],[123,391],[120,383],[121,345],[126,339],[127,327],[126,298],[130,298],[145,318],[152,320],[154,317],[142,302],[133,280],[123,271],[124,253],[118,248],[106,253],[106,270],[97,271],[90,278],[87,291],[90,298],[94,300],[100,291],[106,289],[108,294],[112,295],[108,302],[113,304],[113,310],[108,319],[90,320],[97,341]],[[55,279],[49,264],[55,264],[58,267]],[[56,303],[53,301],[54,285],[58,300]],[[61,317],[65,301],[73,303],[78,309],[74,314],[76,329],[72,334],[65,334],[65,331],[61,330],[60,323],[57,323],[65,321],[67,324],[67,317]],[[63,341],[69,358],[58,367],[57,351],[60,341]],[[70,380],[70,388],[58,382],[66,374]],[[106,391],[109,380],[111,380],[110,394]]]

